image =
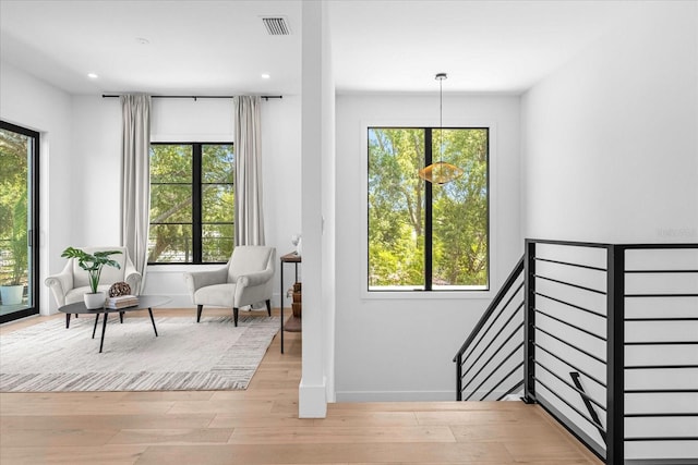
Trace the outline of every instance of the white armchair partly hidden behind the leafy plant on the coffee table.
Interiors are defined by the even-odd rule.
[[[141,273],[136,271],[129,252],[125,247],[81,247],[88,254],[99,250],[121,250],[121,254],[110,256],[121,268],[104,267],[99,278],[98,291],[109,291],[111,284],[125,282],[131,286],[131,293],[137,295],[141,287]],[[59,307],[63,305],[81,302],[83,295],[91,292],[89,277],[87,271],[80,268],[75,258],[69,258],[63,270],[58,274],[52,274],[44,281],[51,289],[56,303]]]

